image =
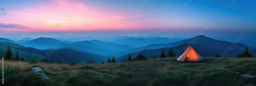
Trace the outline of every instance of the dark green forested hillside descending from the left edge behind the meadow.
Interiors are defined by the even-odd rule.
[[[54,61],[61,61],[64,63],[76,62],[76,63],[84,63],[88,61],[95,61],[100,63],[101,61],[106,61],[107,56],[86,53],[81,51],[76,51],[72,49],[60,49],[60,50],[39,50],[32,47],[24,47],[22,45],[14,44],[11,42],[0,42],[0,55],[4,55],[7,45],[10,45],[12,48],[13,56],[16,54],[16,49],[20,50],[20,56],[23,56],[25,60],[29,60],[34,58],[35,56],[38,59],[48,58]],[[15,46],[16,45],[16,46]],[[52,53],[50,53],[52,52]]]

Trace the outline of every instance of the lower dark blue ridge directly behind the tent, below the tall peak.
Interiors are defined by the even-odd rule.
[[[182,44],[182,45],[172,47],[172,49],[176,53],[177,58],[185,52],[184,46],[187,46],[187,44]],[[222,49],[212,49],[208,46],[199,45],[199,44],[194,44],[192,47],[202,57],[214,57],[216,55],[216,53],[218,53],[218,54],[223,53],[223,52],[224,52],[224,54],[227,53]],[[170,47],[142,50],[142,51],[133,52],[133,53],[130,53],[130,54],[131,54],[132,58],[136,58],[136,55],[140,53],[142,55],[145,54],[147,59],[153,59],[155,56],[157,58],[160,58],[162,50],[164,50],[165,53],[167,54],[168,50],[170,50]],[[244,50],[231,49],[231,50],[228,51],[228,53],[226,55],[223,55],[223,56],[224,57],[236,57],[239,53],[243,53],[243,52],[244,52]],[[252,53],[254,56],[256,55],[256,50],[250,50],[249,52]],[[122,60],[127,60],[128,55],[129,55],[129,53],[127,53],[126,55],[117,57],[116,60],[118,62],[120,62]]]

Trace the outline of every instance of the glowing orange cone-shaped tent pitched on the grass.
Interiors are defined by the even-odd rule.
[[[180,62],[199,62],[204,60],[204,58],[202,58],[201,56],[199,56],[196,51],[194,50],[194,48],[189,45],[189,47],[187,48],[187,50],[181,55],[179,56],[179,58],[177,58],[178,61]]]

